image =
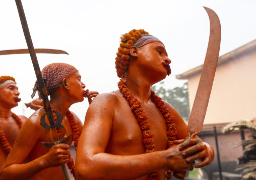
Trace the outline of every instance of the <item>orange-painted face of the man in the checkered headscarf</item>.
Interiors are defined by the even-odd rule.
[[[69,95],[73,97],[76,102],[82,102],[84,100],[85,84],[81,81],[80,73],[74,73],[67,78],[67,81],[69,86]]]

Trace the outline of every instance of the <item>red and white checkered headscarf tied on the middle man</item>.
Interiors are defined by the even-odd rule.
[[[65,63],[52,63],[45,66],[41,73],[47,94],[49,95],[51,92],[55,91],[59,87],[60,82],[63,80],[63,78],[68,78],[76,72],[78,72],[78,70],[74,66]],[[35,87],[33,89],[34,92],[32,94],[32,98],[34,97],[35,91],[36,89],[38,90],[38,88],[39,86],[36,81]],[[41,99],[41,95],[39,92],[38,95]]]

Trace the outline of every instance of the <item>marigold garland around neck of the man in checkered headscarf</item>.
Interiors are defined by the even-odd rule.
[[[44,107],[43,103],[42,103],[42,106]],[[53,110],[54,110],[53,106],[52,105],[50,105],[50,106],[51,106],[51,110],[53,112]],[[78,140],[80,137],[80,132],[79,132],[79,128],[77,125],[77,121],[75,120],[74,115],[72,114],[72,112],[70,112],[70,110],[67,111],[66,115],[70,120],[72,134],[73,134],[73,140],[74,140],[74,146],[75,146],[75,149],[77,150]],[[54,117],[54,122],[56,123],[57,116],[54,112],[53,112],[53,117]],[[57,133],[58,133],[58,137],[60,137],[61,133],[58,128],[57,128]],[[71,157],[71,153],[69,153],[69,161],[68,161],[67,165],[70,169],[70,172],[73,174],[74,178],[76,179],[75,163],[74,163],[74,159]]]

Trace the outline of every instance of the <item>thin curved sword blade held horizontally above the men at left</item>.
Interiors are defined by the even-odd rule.
[[[57,49],[35,49],[36,53],[47,53],[47,54],[67,54],[66,51],[57,50]],[[0,51],[0,55],[9,55],[9,54],[29,54],[28,49],[13,49],[13,50],[4,50]]]

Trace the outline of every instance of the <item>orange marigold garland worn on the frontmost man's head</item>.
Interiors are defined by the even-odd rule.
[[[119,78],[122,77],[123,73],[129,65],[130,48],[142,36],[142,34],[149,33],[144,30],[132,30],[122,36],[120,47],[118,48],[118,52],[116,53],[117,57],[115,58],[115,68],[117,76]]]

